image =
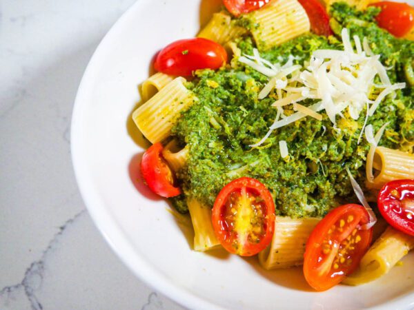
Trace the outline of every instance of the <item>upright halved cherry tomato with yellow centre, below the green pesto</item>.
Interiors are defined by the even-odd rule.
[[[227,251],[252,256],[272,240],[275,203],[258,180],[237,178],[219,192],[212,219],[215,234]]]

